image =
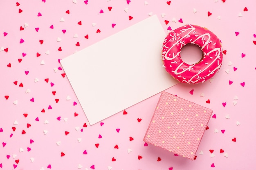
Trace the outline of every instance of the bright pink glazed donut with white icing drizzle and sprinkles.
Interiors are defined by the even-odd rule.
[[[186,44],[196,44],[203,52],[195,64],[184,63],[180,51]],[[183,83],[200,83],[216,74],[222,64],[222,47],[218,37],[207,28],[185,25],[171,31],[164,39],[162,60],[165,70]]]

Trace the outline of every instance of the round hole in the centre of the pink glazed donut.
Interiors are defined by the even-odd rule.
[[[202,60],[203,52],[198,45],[189,43],[182,47],[180,57],[184,63],[192,65]]]

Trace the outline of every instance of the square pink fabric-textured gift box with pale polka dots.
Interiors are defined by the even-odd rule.
[[[144,142],[193,160],[212,112],[162,92]]]

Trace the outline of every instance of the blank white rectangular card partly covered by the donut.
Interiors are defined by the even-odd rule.
[[[61,60],[90,124],[177,84],[162,67],[156,15]]]

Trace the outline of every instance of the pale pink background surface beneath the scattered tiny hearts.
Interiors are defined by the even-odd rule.
[[[253,169],[255,157],[251,153],[256,151],[253,133],[256,129],[253,102],[256,96],[256,2],[172,0],[168,5],[165,0],[146,0],[148,4],[145,5],[144,0],[130,0],[130,3],[126,0],[88,0],[85,1],[87,4],[81,0],[76,0],[76,3],[72,0],[44,1],[0,2],[0,169],[75,170],[79,164],[83,170],[108,170],[111,167],[112,170]],[[112,7],[111,11],[108,7]],[[128,12],[124,11],[126,8]],[[193,9],[197,12],[193,13]],[[66,13],[67,10],[70,14]],[[212,13],[210,16],[208,11]],[[158,16],[166,34],[169,26],[175,29],[184,24],[197,24],[215,33],[222,41],[223,50],[227,50],[220,72],[212,82],[178,84],[166,90],[212,109],[216,116],[209,121],[209,129],[204,133],[195,161],[143,142],[160,94],[126,109],[126,115],[120,112],[101,123],[83,127],[84,123],[88,124],[85,114],[67,77],[61,75],[64,72],[58,59],[150,17],[151,12]],[[164,18],[163,13],[166,14]],[[133,17],[132,20],[129,16]],[[60,22],[61,17],[65,22]],[[168,24],[165,20],[169,21]],[[92,23],[96,26],[93,27]],[[116,24],[114,28],[112,24]],[[53,29],[50,28],[52,25]],[[20,31],[20,26],[24,30]],[[101,32],[97,33],[97,29]],[[77,38],[73,37],[75,34]],[[86,39],[85,35],[89,38]],[[58,37],[62,41],[57,42]],[[21,39],[23,43],[20,43]],[[43,40],[43,44],[39,40]],[[77,42],[80,46],[76,46]],[[62,51],[58,51],[59,47]],[[48,50],[49,54],[46,54]],[[26,55],[22,57],[22,53]],[[44,65],[40,64],[42,60]],[[11,67],[7,66],[9,63]],[[28,71],[27,75],[25,71]],[[34,82],[35,78],[39,81]],[[49,78],[48,83],[46,78]],[[18,81],[17,85],[13,83],[15,81]],[[86,80],[81,77],[81,82]],[[20,83],[23,87],[19,87]],[[26,93],[27,89],[31,92]],[[66,100],[67,96],[71,99]],[[234,100],[235,96],[238,100]],[[34,102],[30,101],[32,98]],[[16,100],[17,105],[13,104]],[[234,105],[233,101],[237,104]],[[74,102],[78,104],[74,105]],[[41,112],[43,109],[45,113]],[[75,112],[79,115],[74,116]],[[26,118],[24,113],[28,114]],[[49,123],[45,124],[45,120]],[[18,124],[14,124],[15,121]],[[240,125],[236,124],[237,121]],[[27,128],[27,124],[31,126]],[[12,127],[16,128],[15,131]],[[79,127],[78,131],[75,127]],[[218,133],[214,133],[216,129]],[[26,133],[22,134],[22,130]],[[48,131],[46,135],[44,130]],[[65,135],[65,131],[69,134]],[[236,142],[232,141],[234,137]],[[31,139],[34,143],[30,143]],[[56,144],[59,141],[60,146]],[[114,148],[116,145],[118,149]],[[24,151],[20,152],[20,148]],[[128,153],[128,149],[132,152]],[[224,152],[220,153],[220,149]],[[87,154],[83,154],[85,150]],[[201,150],[202,155],[199,154]],[[65,155],[61,157],[61,153]],[[228,157],[224,157],[225,154]],[[10,155],[9,159],[7,155]],[[112,161],[113,157],[115,161]],[[31,158],[34,158],[33,162]],[[213,163],[214,168],[211,167]]]

